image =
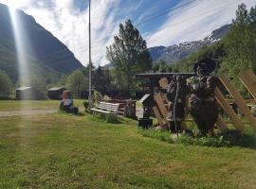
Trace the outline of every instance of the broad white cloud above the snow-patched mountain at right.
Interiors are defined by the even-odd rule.
[[[182,2],[183,4],[184,2]],[[146,36],[149,46],[201,40],[219,26],[231,23],[241,3],[247,8],[255,0],[198,0],[169,14],[169,19],[155,33]]]

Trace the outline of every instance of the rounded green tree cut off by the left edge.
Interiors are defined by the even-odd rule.
[[[0,98],[8,97],[11,92],[12,83],[9,76],[0,70]]]

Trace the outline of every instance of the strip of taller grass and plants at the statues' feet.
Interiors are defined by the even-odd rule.
[[[180,134],[176,137],[169,131],[159,131],[155,129],[138,129],[142,136],[155,138],[157,140],[170,143],[182,144],[185,146],[212,146],[212,147],[231,147],[241,146],[256,149],[256,133],[253,130],[247,130],[239,137],[232,135],[214,135],[212,137],[192,137],[185,134]]]

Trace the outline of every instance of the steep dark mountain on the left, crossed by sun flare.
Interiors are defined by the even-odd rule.
[[[19,34],[27,45],[26,57],[33,75],[60,77],[82,67],[74,54],[35,19],[21,10],[15,10],[19,20]],[[0,69],[15,80],[18,75],[17,52],[9,8],[0,4]]]

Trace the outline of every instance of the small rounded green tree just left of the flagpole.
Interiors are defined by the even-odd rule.
[[[81,70],[72,72],[66,78],[66,86],[74,94],[80,94],[83,90],[87,90],[88,85],[88,79],[83,76]]]

